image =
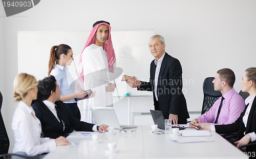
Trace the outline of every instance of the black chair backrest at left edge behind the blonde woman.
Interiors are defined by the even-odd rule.
[[[5,124],[2,118],[2,113],[1,113],[2,103],[3,103],[3,96],[0,92],[0,154],[8,153],[8,149],[10,145],[9,138],[5,129]]]

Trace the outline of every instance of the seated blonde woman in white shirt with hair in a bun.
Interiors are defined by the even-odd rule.
[[[13,153],[27,156],[38,156],[55,149],[59,145],[70,145],[64,137],[56,140],[42,137],[40,120],[36,118],[35,111],[30,106],[32,100],[37,98],[38,83],[35,77],[28,74],[18,74],[14,79],[14,101],[18,102],[12,118],[12,130],[15,138]],[[12,158],[22,158],[12,156]]]

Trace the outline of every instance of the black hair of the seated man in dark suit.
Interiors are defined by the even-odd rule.
[[[56,90],[56,79],[54,76],[46,77],[38,81],[37,85],[37,100],[44,101],[51,96],[51,92]]]

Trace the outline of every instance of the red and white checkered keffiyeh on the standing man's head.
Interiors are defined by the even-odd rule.
[[[106,42],[104,43],[104,50],[106,51],[106,55],[108,56],[109,71],[113,72],[113,67],[114,67],[114,64],[116,63],[116,56],[115,56],[115,52],[114,52],[114,48],[113,48],[113,44],[112,44],[112,40],[111,40],[111,27],[109,24],[106,24],[105,22],[101,22],[93,27],[93,29],[87,39],[86,45],[84,46],[84,48],[82,50],[82,53],[83,53],[84,49],[86,49],[87,47],[89,47],[91,44],[93,44],[95,42],[95,33],[96,33],[98,27],[102,24],[109,27],[108,40],[106,40]],[[78,90],[83,89],[83,82],[84,82],[82,53],[79,57],[79,62],[78,62],[78,75],[79,75],[78,84],[77,84]]]

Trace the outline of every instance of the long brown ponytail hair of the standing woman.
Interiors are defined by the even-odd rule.
[[[58,63],[59,57],[62,54],[68,55],[68,51],[70,50],[70,46],[67,44],[60,44],[59,46],[53,46],[50,53],[49,58],[49,71],[48,76],[50,76],[51,71],[55,67],[55,63]]]

